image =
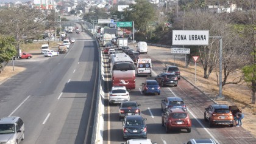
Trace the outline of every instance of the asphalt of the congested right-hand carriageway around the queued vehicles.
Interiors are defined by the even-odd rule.
[[[135,49],[135,47],[133,47]],[[108,60],[104,55],[105,59]],[[141,92],[141,83],[145,80],[154,80],[157,74],[163,71],[163,68],[168,63],[168,60],[174,62],[174,55],[171,50],[165,48],[149,47],[148,54],[141,54],[142,58],[151,58],[153,65],[152,77],[137,77],[136,89],[130,91],[130,101],[137,101],[140,103],[141,115],[146,117],[148,139],[158,144],[180,144],[186,143],[190,139],[215,139],[218,143],[256,143],[253,135],[243,128],[230,128],[229,126],[214,126],[210,128],[207,122],[204,122],[204,108],[215,103],[210,100],[202,92],[195,89],[190,83],[181,78],[177,87],[161,87],[160,95],[143,95]],[[184,55],[176,55],[176,58],[185,60]],[[106,69],[109,70],[107,62],[105,62]],[[181,74],[182,75],[182,74]],[[106,80],[107,89],[112,86],[111,81]],[[105,89],[105,92],[108,90]],[[186,130],[171,131],[168,134],[165,132],[165,127],[162,126],[162,110],[161,100],[165,97],[181,97],[185,101],[188,108],[188,114],[192,121],[191,132]],[[108,97],[105,97],[105,123],[104,123],[104,144],[122,143],[123,126],[119,121],[118,110],[119,106],[108,106]]]

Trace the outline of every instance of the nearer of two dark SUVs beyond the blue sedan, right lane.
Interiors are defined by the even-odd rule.
[[[178,85],[178,78],[176,77],[175,74],[171,74],[171,73],[161,73],[157,75],[155,80],[162,87],[164,87],[165,85],[171,85],[171,86]]]

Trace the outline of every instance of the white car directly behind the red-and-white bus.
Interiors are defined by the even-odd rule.
[[[130,94],[125,86],[113,86],[109,92],[109,103],[122,103],[130,101]]]

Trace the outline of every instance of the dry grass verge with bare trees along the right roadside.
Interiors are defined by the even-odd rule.
[[[173,61],[169,61],[173,63]],[[256,136],[256,108],[255,104],[251,103],[251,91],[249,91],[246,83],[241,85],[237,84],[227,84],[222,87],[222,95],[224,95],[224,100],[217,100],[216,96],[219,94],[219,86],[217,86],[216,72],[213,72],[208,79],[203,78],[204,70],[197,64],[196,66],[196,83],[194,80],[194,63],[191,63],[189,68],[184,68],[184,62],[176,60],[177,66],[180,67],[180,73],[182,77],[185,77],[188,81],[191,81],[194,85],[199,87],[208,97],[215,100],[217,103],[226,105],[237,105],[239,106],[243,113],[245,114],[243,119],[243,127],[250,131]],[[239,74],[230,75],[229,80],[233,80]]]

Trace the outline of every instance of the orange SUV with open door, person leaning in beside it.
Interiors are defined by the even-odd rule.
[[[204,120],[209,122],[210,127],[213,125],[229,125],[233,127],[236,112],[241,112],[238,106],[227,105],[210,105],[205,108]]]

